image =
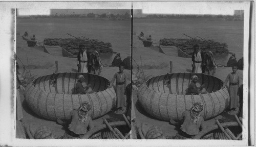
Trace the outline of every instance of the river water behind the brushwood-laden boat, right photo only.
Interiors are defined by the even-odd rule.
[[[188,38],[199,36],[227,43],[229,52],[237,60],[243,57],[244,21],[202,20],[202,19],[134,19],[133,32],[151,35],[153,42],[163,38]],[[215,55],[217,64],[226,65],[230,55]]]

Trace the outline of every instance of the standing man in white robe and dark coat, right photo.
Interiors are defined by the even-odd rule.
[[[200,50],[200,46],[199,45],[194,45],[194,52],[192,55],[192,72],[194,73],[204,73],[204,69],[205,69],[205,63],[204,61],[204,55],[205,52]]]

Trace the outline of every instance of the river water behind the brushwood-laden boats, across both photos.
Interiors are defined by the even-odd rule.
[[[44,18],[44,19],[17,19],[17,32],[21,35],[27,31],[35,34],[36,39],[45,38],[72,38],[84,36],[111,42],[115,52],[124,59],[131,56],[131,21],[112,21],[106,19],[80,18]],[[205,39],[214,39],[227,43],[228,49],[236,53],[237,60],[243,57],[243,21],[201,20],[201,19],[134,19],[133,32],[151,34],[152,39],[159,41],[162,38],[187,38],[200,36]],[[152,51],[154,52],[154,51]],[[113,55],[101,55],[102,62],[111,64]],[[217,64],[225,65],[230,55],[218,55]]]

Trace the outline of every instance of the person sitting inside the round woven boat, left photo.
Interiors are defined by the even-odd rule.
[[[82,82],[84,80],[84,77],[82,75],[78,76],[78,81],[76,83],[75,92],[74,94],[86,94],[86,93],[93,93],[92,88],[90,87],[91,84],[88,84],[86,86],[82,85]],[[85,83],[84,83],[85,84]]]

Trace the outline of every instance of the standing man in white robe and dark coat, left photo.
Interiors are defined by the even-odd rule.
[[[87,52],[86,47],[83,44],[79,45],[79,52],[77,56],[77,66],[78,66],[78,72],[87,73]]]

